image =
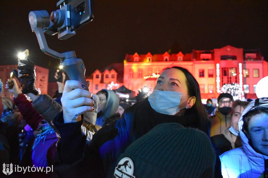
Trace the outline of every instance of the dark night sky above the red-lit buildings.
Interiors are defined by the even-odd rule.
[[[17,64],[17,54],[29,49],[36,65],[56,70],[59,59],[44,54],[28,14],[57,10],[58,1],[1,0],[0,64]],[[231,45],[260,48],[268,59],[268,1],[95,0],[94,19],[76,35],[59,40],[45,34],[49,48],[62,53],[75,50],[84,61],[86,76],[96,69],[123,62],[125,55],[213,50]]]

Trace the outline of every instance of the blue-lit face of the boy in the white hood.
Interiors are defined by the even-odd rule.
[[[248,132],[255,151],[268,156],[268,114],[253,116],[248,122]]]

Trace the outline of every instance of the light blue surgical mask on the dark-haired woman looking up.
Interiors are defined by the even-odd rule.
[[[180,92],[154,90],[148,97],[148,101],[156,112],[175,115],[183,109],[179,108],[182,96],[184,95]]]

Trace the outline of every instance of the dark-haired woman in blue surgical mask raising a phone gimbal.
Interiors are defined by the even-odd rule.
[[[113,177],[121,153],[161,123],[180,123],[198,128],[209,136],[209,117],[201,102],[198,82],[182,67],[165,68],[153,93],[128,107],[122,118],[104,125],[88,145],[80,130],[83,114],[76,117],[77,113],[93,110],[92,95],[84,88],[79,81],[66,81],[63,112],[53,121],[61,132],[53,164],[59,177]],[[65,106],[67,103],[72,105]]]

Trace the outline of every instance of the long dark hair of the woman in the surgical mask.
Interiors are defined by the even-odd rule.
[[[197,113],[199,116],[199,122],[200,122],[200,130],[204,131],[207,133],[210,128],[208,128],[208,123],[209,123],[209,116],[207,115],[207,111],[204,108],[202,101],[201,101],[201,94],[200,94],[200,89],[199,89],[199,84],[196,81],[195,77],[185,68],[176,66],[176,64],[172,64],[170,66],[167,66],[164,68],[162,71],[170,69],[170,68],[175,68],[181,70],[185,77],[186,77],[186,84],[188,88],[188,93],[190,96],[195,96],[196,101],[195,104],[193,105],[192,108],[187,109],[185,111],[185,115],[191,114],[191,113]]]

